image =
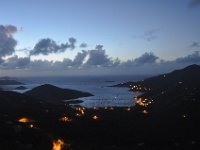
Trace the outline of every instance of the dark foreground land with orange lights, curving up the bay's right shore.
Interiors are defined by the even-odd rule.
[[[54,142],[54,150],[59,144],[65,150],[198,150],[200,84],[193,79],[128,83],[132,90],[148,90],[132,108],[71,108],[0,91],[0,149],[51,150]],[[156,80],[166,85],[150,84]]]

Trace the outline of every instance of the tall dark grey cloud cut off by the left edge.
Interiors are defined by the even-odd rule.
[[[0,59],[14,53],[17,41],[13,34],[18,31],[13,25],[0,25]]]

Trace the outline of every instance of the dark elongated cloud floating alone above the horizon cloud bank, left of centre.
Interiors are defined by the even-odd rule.
[[[71,37],[69,38],[69,43],[58,44],[50,38],[41,39],[34,46],[33,50],[30,51],[30,55],[49,55],[51,53],[62,53],[65,52],[68,48],[75,48],[76,39]]]

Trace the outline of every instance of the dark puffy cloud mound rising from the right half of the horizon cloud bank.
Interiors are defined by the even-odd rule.
[[[140,57],[136,58],[133,62],[135,64],[151,64],[156,63],[156,60],[158,59],[157,56],[155,56],[152,52],[150,53],[144,53]]]

